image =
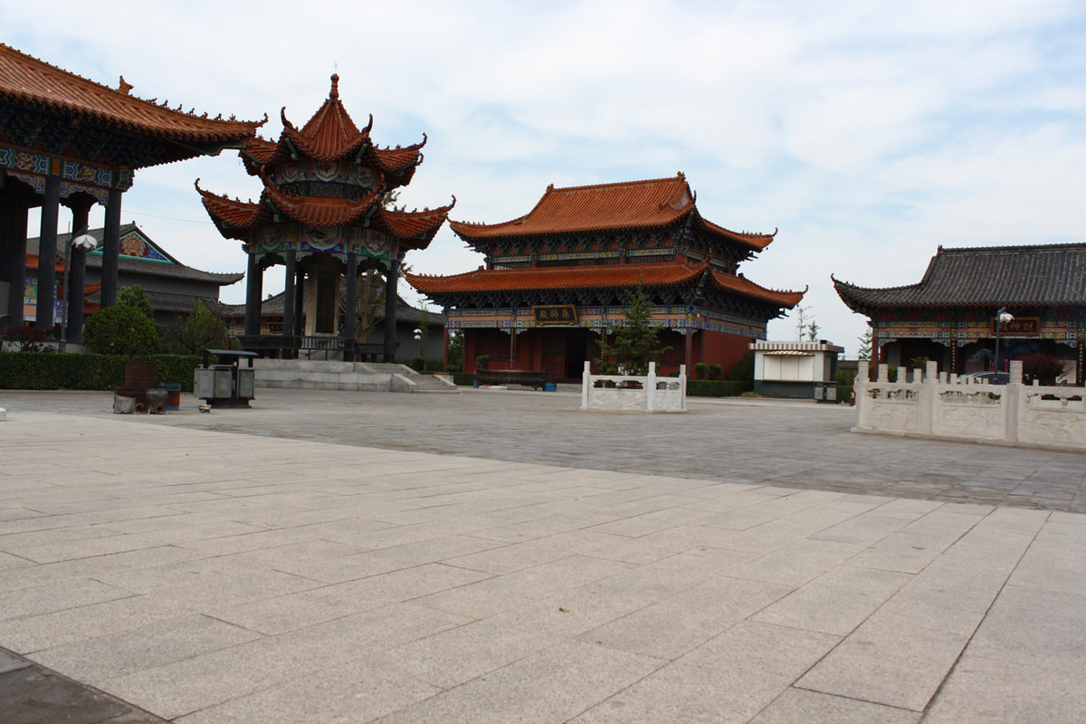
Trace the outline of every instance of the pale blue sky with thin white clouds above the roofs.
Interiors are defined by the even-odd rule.
[[[867,320],[831,275],[919,282],[938,246],[1086,241],[1082,0],[108,3],[0,0],[0,41],[144,99],[301,126],[340,75],[378,145],[419,142],[400,201],[494,224],[556,187],[683,172],[700,214],[772,232],[741,271],[808,289],[818,338],[855,357]],[[136,174],[123,223],[185,264],[243,271],[193,181],[260,195],[232,151]],[[101,209],[92,212],[100,225]],[[36,221],[31,218],[31,236]],[[63,229],[62,229],[63,230]],[[482,257],[446,226],[406,263]],[[1084,282],[1086,283],[1086,282]],[[402,295],[418,302],[402,284]],[[282,289],[268,270],[266,293]],[[241,303],[244,282],[222,299]],[[770,340],[797,339],[797,314]]]

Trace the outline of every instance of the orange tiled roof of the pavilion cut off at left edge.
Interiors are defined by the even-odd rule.
[[[163,139],[237,142],[252,137],[266,123],[209,118],[129,96],[45,63],[0,43],[0,99]],[[197,155],[193,153],[193,155]]]

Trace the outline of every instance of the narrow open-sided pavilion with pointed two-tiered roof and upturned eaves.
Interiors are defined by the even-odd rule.
[[[430,244],[453,207],[386,207],[388,193],[407,186],[422,162],[426,136],[406,148],[375,145],[374,117],[361,130],[355,126],[340,100],[338,75],[302,128],[287,119],[286,109],[281,116],[278,141],[255,138],[241,151],[245,169],[264,183],[257,202],[220,196],[197,182],[219,232],[243,242],[249,255],[242,344],[288,356],[306,346],[337,348],[353,359],[353,315],[341,313],[339,300],[355,309],[358,274],[377,268],[387,279],[383,356],[392,361],[400,263],[406,252]],[[263,271],[277,264],[286,267],[282,333],[261,334]]]

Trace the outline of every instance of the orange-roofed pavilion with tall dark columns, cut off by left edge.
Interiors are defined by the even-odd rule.
[[[108,88],[0,43],[0,317],[24,323],[24,302],[35,325],[60,321],[56,266],[41,264],[27,284],[27,212],[41,207],[38,254],[58,256],[61,205],[72,211],[72,230],[88,226],[90,207],[105,206],[101,305],[117,296],[121,200],[138,168],[240,148],[264,122],[169,109],[157,99],[130,94],[121,78]],[[67,242],[64,242],[67,243]],[[61,249],[63,257],[63,247]],[[68,340],[81,339],[86,251],[71,256]]]

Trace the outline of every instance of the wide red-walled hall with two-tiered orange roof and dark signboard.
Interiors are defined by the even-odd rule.
[[[447,329],[464,331],[466,371],[487,355],[494,369],[579,379],[608,328],[624,321],[639,284],[653,304],[652,323],[662,328],[661,344],[671,347],[661,369],[706,361],[727,370],[805,293],[766,289],[738,274],[776,232],[730,231],[704,219],[682,174],[552,185],[520,218],[450,224],[485,255],[485,267],[407,280],[445,307]]]

